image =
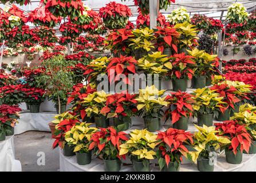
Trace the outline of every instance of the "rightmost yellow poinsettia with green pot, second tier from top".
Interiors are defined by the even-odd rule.
[[[210,55],[203,50],[187,50],[188,54],[194,57],[194,77],[192,78],[192,88],[202,88],[206,86],[206,73],[214,67],[217,55]]]

